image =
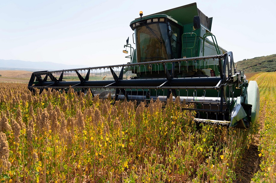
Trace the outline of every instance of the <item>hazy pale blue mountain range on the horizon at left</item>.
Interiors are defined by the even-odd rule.
[[[28,70],[28,71],[41,71],[41,70],[63,70],[91,67],[87,65],[67,65],[59,64],[49,61],[22,61],[22,60],[3,60],[0,59],[0,70]]]

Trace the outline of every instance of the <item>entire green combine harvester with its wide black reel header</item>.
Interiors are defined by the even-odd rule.
[[[170,95],[196,111],[198,123],[248,128],[259,117],[259,88],[234,65],[232,52],[217,44],[212,18],[196,3],[143,16],[130,23],[133,43],[124,45],[127,64],[34,72],[29,89],[35,93],[65,90],[115,100],[166,102]],[[111,80],[100,80],[103,77]],[[99,79],[100,78],[100,79]]]

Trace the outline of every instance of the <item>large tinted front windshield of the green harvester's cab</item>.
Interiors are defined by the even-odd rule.
[[[172,59],[166,23],[145,24],[135,29],[137,62]]]

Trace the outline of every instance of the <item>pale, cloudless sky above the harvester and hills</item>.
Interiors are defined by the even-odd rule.
[[[88,66],[129,62],[122,53],[144,15],[183,6],[187,1],[3,1],[0,0],[0,59],[52,61]],[[276,53],[275,0],[196,1],[213,17],[211,32],[234,60]],[[0,66],[1,67],[1,66]]]

